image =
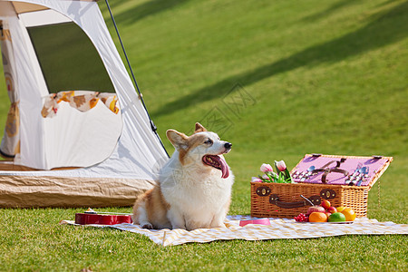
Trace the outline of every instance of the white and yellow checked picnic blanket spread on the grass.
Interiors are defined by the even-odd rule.
[[[184,243],[208,243],[215,240],[245,239],[289,239],[319,238],[342,235],[384,235],[408,234],[407,224],[378,222],[376,219],[357,218],[353,224],[331,223],[299,223],[294,219],[269,219],[270,226],[247,225],[239,227],[239,221],[254,219],[249,216],[228,216],[225,220],[227,228],[199,228],[192,231],[184,229],[146,229],[138,225],[118,224],[112,226],[86,225],[99,228],[118,228],[139,233],[164,247]],[[61,224],[75,225],[74,221],[62,220]]]

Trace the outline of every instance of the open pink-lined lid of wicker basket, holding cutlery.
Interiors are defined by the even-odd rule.
[[[371,188],[388,168],[393,157],[335,156],[306,154],[291,170],[299,183],[368,186]]]

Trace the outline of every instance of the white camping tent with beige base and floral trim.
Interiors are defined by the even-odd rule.
[[[168,156],[97,3],[0,0],[0,27],[0,207],[131,205]]]

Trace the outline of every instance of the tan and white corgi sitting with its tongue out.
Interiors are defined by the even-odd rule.
[[[223,154],[232,144],[201,124],[191,136],[169,130],[175,147],[153,189],[136,199],[133,224],[141,228],[226,228],[234,175]]]

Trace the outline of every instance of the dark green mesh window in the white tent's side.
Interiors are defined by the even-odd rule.
[[[101,57],[74,23],[28,28],[49,92],[114,92]]]

